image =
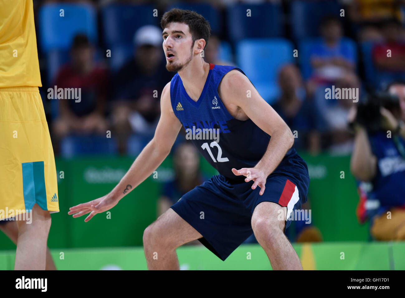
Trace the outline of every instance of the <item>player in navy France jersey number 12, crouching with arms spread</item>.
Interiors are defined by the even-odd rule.
[[[148,268],[179,269],[175,249],[195,239],[225,260],[254,232],[273,269],[302,269],[284,234],[286,219],[306,202],[309,185],[291,130],[242,70],[203,60],[210,35],[204,17],[172,9],[161,27],[166,68],[177,74],[162,91],[155,136],[109,194],[71,207],[68,214],[90,213],[89,221],[111,209],[161,164],[181,126],[212,128],[220,132],[217,142],[197,135],[192,142],[220,175],[185,194],[145,229]]]

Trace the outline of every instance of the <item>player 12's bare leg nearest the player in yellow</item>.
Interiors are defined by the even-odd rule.
[[[201,237],[173,209],[168,209],[143,232],[148,269],[179,270],[176,248]]]

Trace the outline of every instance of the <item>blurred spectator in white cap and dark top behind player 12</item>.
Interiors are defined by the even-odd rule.
[[[113,91],[112,123],[119,150],[129,134],[153,136],[160,115],[160,95],[171,81],[165,67],[162,30],[143,26],[134,35],[134,57],[118,71]]]

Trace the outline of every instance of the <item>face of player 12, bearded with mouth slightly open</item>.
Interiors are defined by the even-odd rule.
[[[193,59],[192,35],[188,25],[168,23],[163,33],[163,51],[166,56],[166,69],[178,72]]]

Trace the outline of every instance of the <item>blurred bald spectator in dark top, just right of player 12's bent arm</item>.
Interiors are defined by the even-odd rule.
[[[308,100],[301,73],[295,65],[283,66],[279,72],[281,97],[273,109],[295,133],[294,147],[316,154],[320,151],[320,131],[324,126],[317,106]]]

